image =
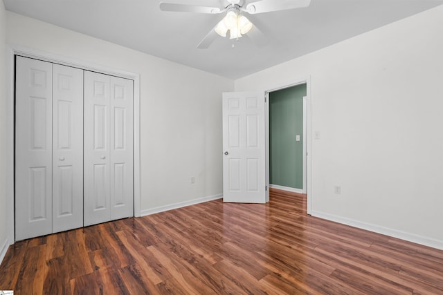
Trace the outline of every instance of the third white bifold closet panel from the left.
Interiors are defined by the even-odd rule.
[[[108,75],[84,71],[84,226],[110,220]]]

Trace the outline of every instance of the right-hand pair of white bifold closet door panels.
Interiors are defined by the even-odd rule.
[[[84,71],[84,225],[133,216],[132,80]]]

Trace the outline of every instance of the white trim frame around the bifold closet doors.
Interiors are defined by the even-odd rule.
[[[33,48],[6,45],[6,245],[15,242],[15,55],[62,64],[82,70],[132,79],[134,81],[134,216],[141,216],[140,204],[140,75],[117,68],[109,68],[79,59],[61,57]]]

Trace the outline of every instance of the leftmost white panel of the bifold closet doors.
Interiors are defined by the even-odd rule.
[[[15,239],[52,232],[53,65],[16,63]]]

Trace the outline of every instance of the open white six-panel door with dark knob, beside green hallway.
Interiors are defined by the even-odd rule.
[[[223,201],[266,202],[264,94],[223,93]]]

